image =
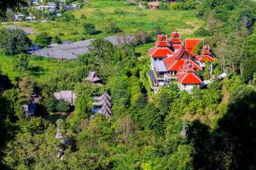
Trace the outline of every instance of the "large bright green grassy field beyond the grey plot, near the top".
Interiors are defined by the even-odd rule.
[[[154,27],[160,27],[162,31],[169,34],[171,31],[182,31],[183,37],[187,37],[204,22],[195,18],[193,11],[177,11],[172,9],[141,9],[129,5],[125,1],[90,0],[83,8],[73,10],[75,20],[71,22],[52,23],[21,23],[20,26],[33,28],[37,33],[47,32],[50,36],[56,35],[61,40],[78,41],[91,37],[106,37],[104,27],[109,22],[115,23],[125,33],[135,33],[139,30],[152,31]],[[85,20],[80,16],[84,14]],[[83,24],[94,23],[99,31],[97,35],[84,35]],[[30,36],[32,39],[35,35]]]

